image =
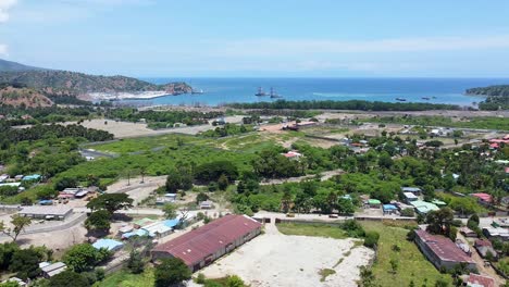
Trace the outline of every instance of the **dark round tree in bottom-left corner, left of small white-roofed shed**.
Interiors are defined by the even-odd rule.
[[[16,272],[16,276],[22,279],[35,278],[40,274],[39,262],[41,260],[41,254],[35,249],[21,249],[13,254],[9,270]]]

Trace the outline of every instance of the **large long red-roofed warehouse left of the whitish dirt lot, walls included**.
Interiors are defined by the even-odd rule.
[[[179,258],[193,271],[209,265],[254,238],[261,224],[246,215],[226,215],[152,249],[152,259]]]

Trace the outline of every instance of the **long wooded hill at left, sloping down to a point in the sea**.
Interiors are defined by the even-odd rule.
[[[185,83],[154,85],[125,76],[96,76],[67,71],[24,71],[0,73],[0,83],[24,85],[45,93],[78,96],[88,92],[133,92],[165,90],[169,93],[190,92]]]

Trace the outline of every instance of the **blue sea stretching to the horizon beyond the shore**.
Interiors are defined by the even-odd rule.
[[[151,99],[151,104],[208,104],[275,101],[257,97],[258,87],[266,92],[273,87],[285,100],[367,100],[397,102],[451,103],[472,105],[483,97],[463,95],[473,87],[509,84],[504,78],[144,78],[156,84],[182,80],[201,95],[164,96]],[[429,97],[430,100],[422,99]],[[434,98],[433,98],[434,97]],[[136,101],[136,100],[131,100]]]

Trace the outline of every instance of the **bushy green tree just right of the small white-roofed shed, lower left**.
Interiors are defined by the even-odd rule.
[[[63,261],[71,270],[84,272],[110,257],[111,253],[105,249],[97,250],[89,244],[80,244],[71,247],[63,255]]]

